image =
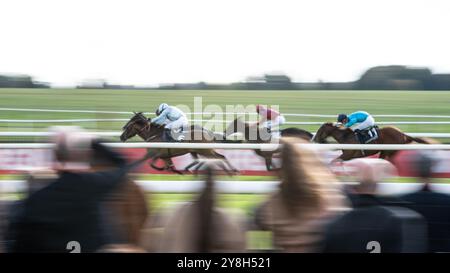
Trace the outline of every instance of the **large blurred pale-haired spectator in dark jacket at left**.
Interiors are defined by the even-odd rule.
[[[109,243],[102,232],[100,204],[141,162],[126,165],[119,154],[78,128],[59,127],[54,133],[58,177],[16,208],[9,227],[11,252],[69,252],[70,241],[78,242],[81,252],[94,252]],[[92,172],[94,154],[113,168]]]

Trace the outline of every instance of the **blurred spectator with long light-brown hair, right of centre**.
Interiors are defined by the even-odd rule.
[[[315,152],[296,145],[303,142],[283,139],[279,190],[256,212],[256,224],[284,252],[319,251],[325,224],[348,208],[336,177]]]

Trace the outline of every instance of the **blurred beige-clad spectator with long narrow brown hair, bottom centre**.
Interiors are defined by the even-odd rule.
[[[203,192],[194,202],[182,205],[168,220],[161,242],[162,252],[245,250],[245,233],[241,221],[216,206],[213,166],[208,164],[206,168]]]

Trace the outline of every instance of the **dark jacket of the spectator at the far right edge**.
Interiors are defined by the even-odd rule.
[[[422,190],[400,197],[428,222],[430,252],[450,252],[450,195]]]

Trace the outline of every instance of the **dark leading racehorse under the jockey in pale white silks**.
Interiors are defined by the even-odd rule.
[[[125,124],[125,126],[122,128],[123,133],[120,136],[120,140],[125,142],[128,139],[138,135],[146,142],[162,142],[162,135],[164,132],[164,125],[159,126],[156,124],[151,123],[150,120],[148,120],[142,112],[134,113],[134,116]],[[188,132],[188,136],[186,141],[189,142],[197,142],[197,143],[211,143],[216,140],[216,136],[199,126],[192,125]],[[221,160],[228,166],[229,169],[231,169],[232,172],[237,172],[236,169],[233,168],[233,166],[230,164],[230,162],[226,159],[226,157],[222,154],[219,154],[218,152],[214,151],[213,149],[170,149],[170,148],[160,148],[155,149],[155,153],[153,155],[152,162],[150,163],[150,166],[156,170],[170,170],[175,173],[181,174],[178,170],[175,169],[175,166],[172,162],[173,157],[181,156],[190,153],[192,157],[194,158],[194,162],[186,166],[185,171],[189,171],[190,168],[197,166],[196,168],[200,168],[201,165],[204,164],[200,163],[198,156],[204,156],[209,159],[218,159]],[[156,162],[157,159],[161,159],[165,162],[165,166],[163,168],[157,167],[154,165],[154,162]],[[225,165],[223,165],[223,169],[230,174],[229,170],[226,168]]]

